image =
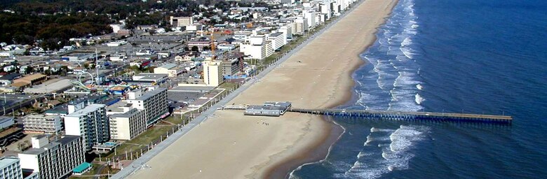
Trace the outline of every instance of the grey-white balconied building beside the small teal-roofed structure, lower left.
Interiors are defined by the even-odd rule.
[[[22,169],[37,172],[41,179],[65,178],[84,162],[81,136],[64,136],[49,142],[48,136],[32,137],[32,148],[18,155]]]

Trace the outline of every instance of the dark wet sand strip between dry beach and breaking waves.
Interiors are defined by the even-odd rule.
[[[355,73],[355,71],[362,68],[363,66],[369,64],[369,62],[366,62],[365,59],[362,59],[360,55],[363,54],[363,52],[365,52],[366,50],[368,50],[368,48],[370,48],[374,44],[374,42],[377,40],[376,34],[378,32],[378,29],[386,23],[388,18],[393,13],[393,8],[397,6],[398,2],[399,0],[396,0],[393,6],[391,6],[391,9],[389,10],[390,11],[389,15],[386,15],[386,17],[384,17],[384,22],[382,22],[381,24],[378,24],[378,26],[374,28],[375,30],[372,33],[374,37],[372,38],[372,41],[365,42],[365,47],[363,48],[363,50],[360,53],[356,54],[356,57],[358,57],[358,59],[360,60],[353,62],[353,64],[349,65],[351,66],[350,67],[351,69],[349,71],[346,71],[346,76],[351,79],[351,83],[345,83],[344,87],[339,87],[339,88],[345,88],[345,89],[342,89],[341,91],[346,91],[348,93],[344,93],[344,96],[341,99],[339,99],[339,101],[331,103],[325,106],[325,108],[337,108],[340,106],[348,106],[351,103],[355,103],[355,101],[358,100],[356,98],[356,92],[355,90],[353,90],[356,84],[355,80],[353,79],[353,73]],[[360,6],[361,3],[363,3],[363,1],[359,2],[359,4],[357,4],[356,6]],[[358,7],[353,7],[351,11],[355,10],[355,8],[358,8]],[[349,13],[351,13],[351,11]],[[328,123],[328,125],[330,125],[330,135],[318,139],[318,141],[316,141],[316,143],[313,146],[309,146],[309,148],[312,148],[312,149],[307,150],[306,152],[313,152],[313,154],[296,156],[296,157],[286,159],[283,163],[277,164],[276,166],[272,167],[272,169],[269,169],[269,171],[266,171],[267,178],[290,178],[290,176],[292,175],[292,172],[296,171],[300,167],[308,165],[308,164],[315,164],[317,162],[323,162],[323,160],[327,159],[328,155],[330,154],[330,150],[332,146],[334,146],[337,143],[337,141],[340,138],[342,138],[342,136],[346,133],[346,129],[344,129],[342,125],[337,124],[337,122],[335,122],[334,119],[332,119],[332,117],[321,117],[321,120],[323,122]],[[308,156],[308,157],[305,157],[305,156]]]

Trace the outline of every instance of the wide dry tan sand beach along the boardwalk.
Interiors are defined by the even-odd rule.
[[[396,2],[361,3],[230,103],[292,101],[293,108],[332,108],[349,100],[351,73],[363,64],[358,55],[374,42],[376,28]],[[147,162],[151,169],[129,178],[280,178],[325,157],[324,142],[339,134],[332,126],[299,113],[259,117],[217,111]]]

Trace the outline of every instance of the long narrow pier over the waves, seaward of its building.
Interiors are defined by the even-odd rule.
[[[290,108],[288,112],[313,115],[331,115],[337,117],[356,117],[367,120],[400,120],[424,122],[471,122],[488,124],[511,124],[513,117],[506,115],[476,115],[464,113],[428,113],[403,111],[346,110],[346,109],[298,109]]]

